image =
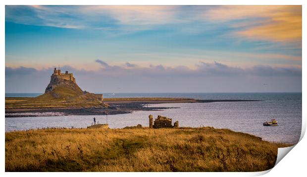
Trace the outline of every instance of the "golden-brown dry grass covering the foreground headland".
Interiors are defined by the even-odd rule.
[[[211,127],[14,131],[5,171],[254,172],[273,168],[278,146]]]

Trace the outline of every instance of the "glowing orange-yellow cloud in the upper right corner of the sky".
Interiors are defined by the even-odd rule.
[[[205,12],[212,21],[233,21],[235,34],[275,42],[302,43],[302,5],[223,5]]]

